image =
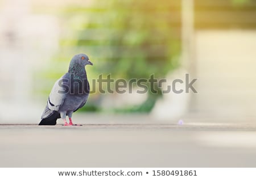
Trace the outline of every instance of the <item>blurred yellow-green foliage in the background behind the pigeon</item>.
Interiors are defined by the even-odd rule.
[[[60,37],[61,52],[52,63],[67,66],[71,54],[84,52],[93,61],[86,67],[90,84],[102,74],[130,80],[164,76],[179,66],[181,50],[180,1],[93,1],[88,6],[71,5],[59,10],[65,19]],[[67,33],[68,32],[68,33]],[[49,73],[49,69],[51,69]],[[63,75],[63,68],[49,64],[38,75],[54,81]],[[36,79],[38,80],[38,79]],[[147,84],[148,86],[148,84]],[[48,95],[47,91],[40,91]],[[156,88],[157,89],[157,88]],[[160,89],[159,90],[159,94]],[[121,106],[113,112],[150,112],[159,94],[148,92],[146,101],[135,106]],[[100,92],[90,95],[88,104],[80,111],[101,111]]]

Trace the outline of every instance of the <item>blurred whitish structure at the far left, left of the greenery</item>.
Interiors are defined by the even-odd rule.
[[[30,3],[28,0],[1,3],[0,121],[40,117],[33,101],[32,74],[58,47],[57,19],[32,14]]]

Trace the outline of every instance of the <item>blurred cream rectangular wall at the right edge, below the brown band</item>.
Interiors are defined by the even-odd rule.
[[[196,32],[196,76],[192,110],[211,117],[255,117],[256,31]]]

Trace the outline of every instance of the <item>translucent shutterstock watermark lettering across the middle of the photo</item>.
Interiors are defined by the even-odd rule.
[[[171,81],[167,79],[156,79],[155,75],[150,75],[147,79],[113,79],[111,74],[107,75],[106,78],[103,78],[103,75],[100,74],[97,79],[92,80],[90,88],[87,82],[87,79],[76,78],[75,75],[71,74],[69,79],[59,80],[59,93],[71,93],[71,94],[82,94],[82,93],[134,93],[133,87],[137,87],[137,93],[147,93],[151,92],[153,94],[158,93],[170,93],[174,92],[176,94],[180,93],[197,93],[195,84],[197,79],[189,79],[189,74],[185,74],[184,79],[174,79]],[[179,85],[183,84],[183,85]],[[182,87],[177,87],[182,86]]]

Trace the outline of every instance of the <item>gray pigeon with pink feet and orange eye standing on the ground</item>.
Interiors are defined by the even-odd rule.
[[[58,118],[64,120],[64,126],[73,125],[72,114],[85,105],[90,91],[85,71],[88,64],[93,65],[85,54],[77,54],[71,59],[68,73],[52,88],[39,125],[56,125]]]

